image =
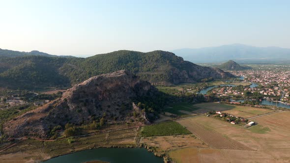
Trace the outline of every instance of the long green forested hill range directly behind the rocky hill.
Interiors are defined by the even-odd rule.
[[[88,78],[117,70],[128,70],[153,84],[171,85],[229,78],[232,74],[218,68],[184,61],[170,52],[148,53],[116,51],[88,58],[24,56],[0,59],[0,83],[20,89],[70,86]]]

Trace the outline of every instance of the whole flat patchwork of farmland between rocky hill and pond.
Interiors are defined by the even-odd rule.
[[[169,111],[173,111],[173,108]],[[251,121],[257,124],[245,128],[213,117],[199,115],[185,116],[173,122],[163,122],[141,128],[131,127],[122,130],[112,128],[111,131],[99,134],[56,141],[23,139],[15,145],[1,145],[0,162],[35,162],[97,147],[141,145],[145,145],[156,155],[165,153],[176,163],[290,162],[290,111],[273,112],[274,110],[271,109],[219,103],[203,103],[192,107],[182,104],[180,109],[176,109],[187,112],[219,109],[223,112],[229,111],[233,115],[247,113],[253,117]],[[180,112],[180,114],[185,113]],[[256,116],[262,114],[264,115]],[[164,116],[167,115],[164,114]],[[7,146],[10,147],[7,148]]]

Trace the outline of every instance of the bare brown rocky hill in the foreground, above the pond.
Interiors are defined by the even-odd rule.
[[[156,99],[157,94],[157,89],[149,82],[125,70],[99,75],[74,85],[61,98],[5,123],[3,131],[10,137],[47,138],[55,126],[82,125],[102,117],[107,123],[129,120],[149,123],[155,115],[146,109],[141,111],[133,102]]]

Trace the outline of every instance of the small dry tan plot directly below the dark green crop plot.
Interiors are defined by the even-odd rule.
[[[209,147],[194,135],[142,137],[140,143],[159,147],[161,150],[164,151],[185,147]]]

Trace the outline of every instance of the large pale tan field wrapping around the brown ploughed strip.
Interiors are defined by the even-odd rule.
[[[191,163],[184,160],[186,157],[197,159],[199,163],[217,162],[257,162],[257,163],[284,163],[290,161],[290,131],[285,130],[286,126],[290,126],[290,112],[283,111],[259,118],[251,119],[258,125],[244,128],[238,125],[217,120],[215,118],[198,116],[189,119],[195,119],[206,129],[221,134],[226,138],[230,138],[251,148],[252,150],[233,150],[233,149],[206,149],[206,148],[182,148],[169,152],[169,155],[177,163]],[[263,123],[264,120],[273,118],[273,122],[277,120],[279,124]],[[282,125],[283,123],[283,125]],[[285,127],[283,127],[285,126]],[[190,130],[188,128],[188,130]],[[191,130],[190,130],[191,131]],[[194,133],[193,133],[194,134]],[[188,150],[186,150],[188,149]],[[191,152],[191,150],[193,150]],[[216,159],[217,160],[212,160]]]

